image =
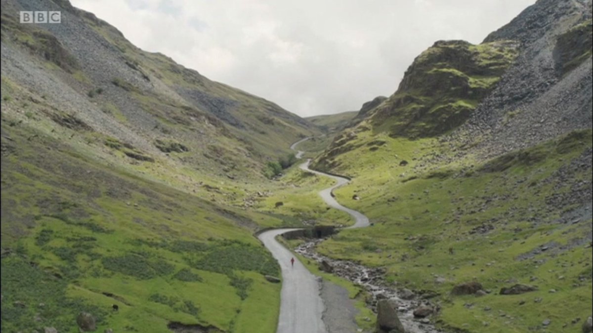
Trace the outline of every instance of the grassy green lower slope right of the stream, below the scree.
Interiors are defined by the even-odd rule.
[[[375,151],[366,145],[377,141],[385,143]],[[572,320],[592,311],[592,220],[566,217],[586,203],[551,201],[590,184],[590,168],[570,165],[591,142],[591,130],[585,130],[490,161],[467,155],[430,163],[451,154],[451,146],[356,133],[347,143],[352,150],[335,156],[332,169],[355,178],[334,193],[373,225],[343,230],[318,251],[384,266],[394,286],[434,294],[441,307],[436,322],[444,328],[575,331],[580,322]],[[352,200],[353,194],[361,199]],[[558,222],[563,216],[568,221]],[[550,249],[541,251],[544,245]],[[467,281],[479,281],[491,293],[449,296],[455,284]],[[498,294],[515,283],[538,291]]]

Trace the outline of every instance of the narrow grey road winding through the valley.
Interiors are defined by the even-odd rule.
[[[291,149],[297,151],[299,143],[308,140],[305,138],[291,145]],[[297,158],[302,158],[303,151],[297,151]],[[301,164],[299,168],[314,174],[324,175],[336,180],[336,184],[319,192],[323,200],[331,207],[349,213],[354,219],[355,224],[349,228],[362,228],[369,225],[369,220],[362,213],[356,210],[348,209],[331,196],[334,188],[347,184],[349,180],[343,177],[324,174],[309,168],[310,160]],[[298,229],[298,228],[297,228]],[[280,315],[278,317],[278,329],[276,333],[326,333],[327,328],[323,323],[323,300],[319,295],[318,278],[311,274],[307,268],[298,260],[294,267],[291,267],[290,260],[293,257],[291,251],[280,245],[276,241],[276,236],[282,233],[297,229],[275,229],[260,233],[258,238],[280,264],[282,270],[282,291],[280,292]]]

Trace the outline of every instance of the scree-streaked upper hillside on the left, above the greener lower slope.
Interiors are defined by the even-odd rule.
[[[18,11],[40,5],[61,10],[62,23],[18,23]],[[69,130],[57,119],[75,119],[96,140],[133,146],[144,161],[181,161],[205,173],[227,168],[241,175],[284,155],[299,137],[317,133],[313,124],[270,101],[138,49],[116,28],[67,1],[2,2],[2,43],[2,94],[30,94],[36,102],[28,114],[55,126],[37,126],[31,117],[25,118],[28,126],[56,138]],[[11,103],[4,109],[23,118]]]

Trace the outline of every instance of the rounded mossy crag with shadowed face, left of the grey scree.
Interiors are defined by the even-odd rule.
[[[460,126],[514,61],[519,43],[479,46],[437,41],[416,57],[397,92],[368,112],[373,126],[389,123],[390,136],[436,136]]]

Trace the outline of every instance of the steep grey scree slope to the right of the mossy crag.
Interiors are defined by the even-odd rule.
[[[453,140],[490,158],[591,127],[591,1],[539,0],[484,41],[521,43],[514,64]],[[466,139],[463,139],[465,137]]]

